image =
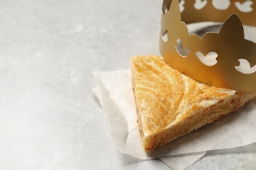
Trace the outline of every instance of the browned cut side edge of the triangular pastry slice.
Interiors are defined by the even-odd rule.
[[[171,141],[183,135],[191,133],[192,131],[200,127],[210,124],[211,122],[215,122],[216,120],[220,120],[221,118],[228,116],[228,114],[231,114],[235,110],[243,107],[247,101],[250,101],[251,99],[253,99],[253,97],[255,97],[255,95],[247,95],[247,97],[244,100],[241,100],[241,98],[239,98],[238,96],[240,96],[240,94],[235,93],[225,102],[223,102],[224,100],[221,100],[215,105],[211,106],[211,107],[219,107],[218,106],[219,103],[224,103],[224,105],[221,105],[221,107],[228,107],[230,103],[238,102],[238,105],[235,105],[234,107],[230,108],[230,110],[228,111],[224,110],[219,112],[211,112],[211,111],[208,112],[206,110],[211,108],[211,107],[208,107],[206,109],[203,109],[201,112],[195,112],[192,116],[184,120],[177,120],[172,123],[172,126],[167,126],[167,128],[163,129],[163,131],[159,131],[158,133],[154,133],[152,135],[142,136],[141,127],[139,126],[144,150],[146,150],[147,152],[154,150],[154,148],[158,148],[167,143],[170,143]],[[205,114],[205,112],[207,113]],[[202,116],[202,113],[204,114],[203,116]],[[195,121],[192,122],[191,120],[195,120]],[[138,120],[138,124],[140,124],[140,120]]]

